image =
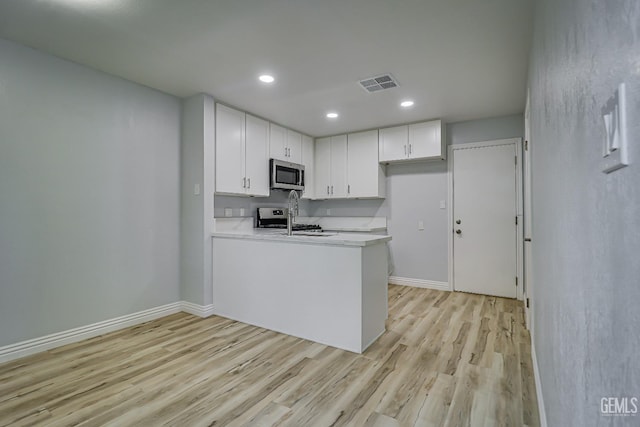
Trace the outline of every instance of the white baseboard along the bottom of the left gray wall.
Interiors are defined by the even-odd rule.
[[[137,313],[127,314],[114,319],[92,323],[86,326],[57,332],[44,337],[21,341],[0,347],[0,363],[29,356],[41,351],[50,350],[66,344],[93,338],[118,329],[138,325],[160,317],[184,311],[199,317],[209,317],[213,314],[213,304],[198,305],[188,301],[178,301],[160,307],[150,308]]]

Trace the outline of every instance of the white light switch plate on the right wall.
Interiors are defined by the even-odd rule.
[[[625,85],[620,83],[613,96],[602,107],[604,140],[602,172],[611,173],[629,164],[627,158],[627,114]]]

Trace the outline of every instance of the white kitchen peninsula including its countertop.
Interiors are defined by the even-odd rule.
[[[356,353],[384,332],[391,236],[212,236],[215,314]]]

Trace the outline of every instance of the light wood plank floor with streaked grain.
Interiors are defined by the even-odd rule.
[[[362,355],[179,313],[0,365],[0,425],[539,422],[519,302],[390,286]]]

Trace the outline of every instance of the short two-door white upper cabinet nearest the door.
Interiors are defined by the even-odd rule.
[[[445,144],[441,120],[380,129],[380,162],[445,159]]]

